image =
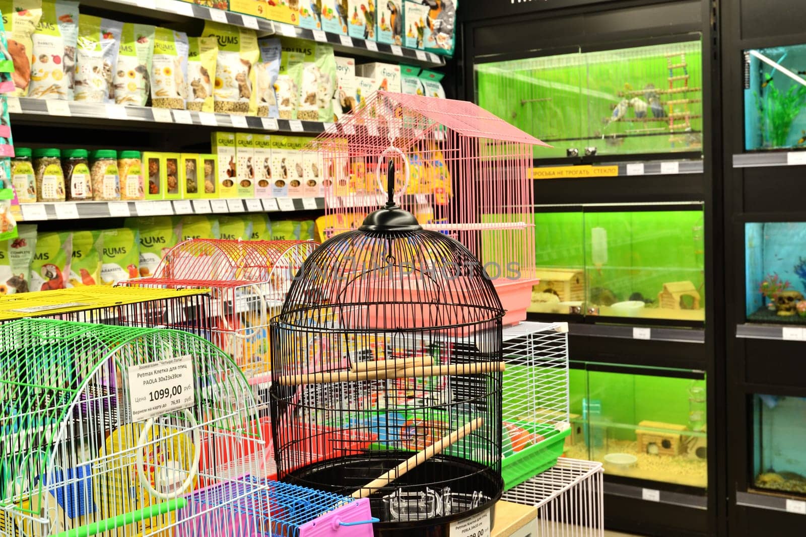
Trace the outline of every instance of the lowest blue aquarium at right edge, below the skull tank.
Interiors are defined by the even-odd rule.
[[[806,398],[753,396],[753,473],[759,489],[806,494]]]

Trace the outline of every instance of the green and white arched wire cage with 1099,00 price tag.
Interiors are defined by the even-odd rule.
[[[243,484],[265,448],[250,386],[209,341],[49,319],[0,325],[0,535],[173,535],[199,487]]]

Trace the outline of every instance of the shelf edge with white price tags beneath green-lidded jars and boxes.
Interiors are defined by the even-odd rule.
[[[173,214],[293,213],[324,209],[323,198],[227,200],[67,201],[21,204],[22,221],[110,217],[156,217]]]

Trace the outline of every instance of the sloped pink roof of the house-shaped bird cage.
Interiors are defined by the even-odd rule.
[[[434,124],[445,126],[456,134],[469,138],[489,138],[502,142],[526,143],[534,146],[551,147],[531,134],[526,134],[516,126],[512,126],[503,119],[491,114],[487,110],[468,101],[455,101],[454,99],[438,99],[436,97],[423,97],[405,93],[393,93],[379,90],[370,97],[367,103],[355,114],[343,117],[338,124],[331,126],[322,138],[330,135],[339,135],[339,125],[362,124],[366,121],[376,121],[372,118],[373,103],[386,101],[388,105],[397,105],[407,109],[413,114],[422,115]],[[395,108],[397,108],[395,106]]]

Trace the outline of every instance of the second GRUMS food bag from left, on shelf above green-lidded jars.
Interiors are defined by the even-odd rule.
[[[65,13],[64,10],[68,12]],[[33,53],[31,54],[31,85],[28,97],[35,99],[70,98],[71,80],[68,65],[65,62],[67,48],[75,46],[78,32],[78,2],[42,2],[42,17],[32,35]],[[66,43],[62,30],[72,36],[72,43]],[[71,62],[73,64],[73,62]],[[71,65],[75,67],[75,65]]]

